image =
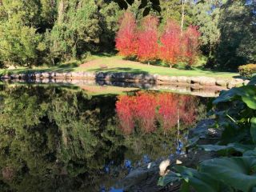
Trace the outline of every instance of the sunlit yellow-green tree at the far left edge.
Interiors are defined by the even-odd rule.
[[[38,0],[10,1],[0,4],[0,61],[6,65],[40,64],[42,18]]]

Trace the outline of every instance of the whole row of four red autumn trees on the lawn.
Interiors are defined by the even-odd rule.
[[[189,26],[183,33],[177,22],[169,20],[158,45],[158,18],[147,16],[137,26],[134,15],[126,12],[116,35],[116,49],[126,57],[137,56],[139,61],[150,62],[160,58],[171,66],[186,62],[192,66],[198,56],[200,34],[196,26]]]

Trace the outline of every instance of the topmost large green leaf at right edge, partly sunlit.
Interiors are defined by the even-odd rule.
[[[219,102],[230,102],[236,98],[241,97],[242,101],[246,103],[248,107],[256,110],[256,88],[255,86],[241,86],[235,87],[231,90],[222,91],[220,96],[214,100],[214,104]]]

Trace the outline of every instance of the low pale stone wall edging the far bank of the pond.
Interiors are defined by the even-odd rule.
[[[35,80],[36,82],[72,82],[74,80],[104,80],[109,82],[140,82],[150,83],[153,85],[176,85],[191,86],[193,89],[204,89],[206,87],[215,87],[215,90],[230,89],[234,86],[247,84],[248,80],[242,78],[211,78],[211,77],[186,77],[186,76],[164,76],[158,74],[131,74],[131,73],[103,73],[103,72],[44,72],[31,74],[11,74],[2,76],[1,79],[26,79],[27,81]]]

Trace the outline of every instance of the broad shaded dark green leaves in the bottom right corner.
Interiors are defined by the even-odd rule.
[[[182,181],[182,191],[190,191],[190,186],[196,191],[254,191],[255,166],[254,156],[214,158],[200,163],[198,170],[175,166],[175,172],[160,178],[158,185]]]

